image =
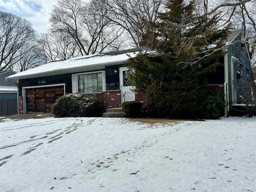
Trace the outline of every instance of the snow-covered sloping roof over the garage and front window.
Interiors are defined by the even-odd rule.
[[[71,58],[68,60],[55,61],[43,64],[41,66],[26,70],[20,73],[6,77],[7,79],[26,79],[44,76],[53,76],[67,73],[77,73],[92,70],[101,70],[105,66],[124,64],[130,57],[136,56],[142,48],[134,48],[124,51],[108,52],[102,54],[93,54],[82,57]]]

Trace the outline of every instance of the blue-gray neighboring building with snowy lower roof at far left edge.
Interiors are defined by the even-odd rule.
[[[13,115],[18,113],[18,88],[16,79],[6,77],[16,74],[12,70],[0,72],[0,116]]]

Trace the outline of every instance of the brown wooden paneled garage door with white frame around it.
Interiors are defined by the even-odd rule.
[[[26,89],[27,113],[51,112],[52,104],[64,95],[64,86]]]

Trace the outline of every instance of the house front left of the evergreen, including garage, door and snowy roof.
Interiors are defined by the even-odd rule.
[[[135,48],[124,51],[94,54],[50,62],[8,78],[18,80],[19,113],[51,112],[58,98],[70,93],[95,95],[100,99],[102,112],[120,107],[124,101],[146,102],[144,93],[130,89],[124,67],[136,56]]]

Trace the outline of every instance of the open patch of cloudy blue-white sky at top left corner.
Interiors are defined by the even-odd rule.
[[[36,32],[46,32],[49,14],[57,0],[0,0],[0,10],[26,18]]]

